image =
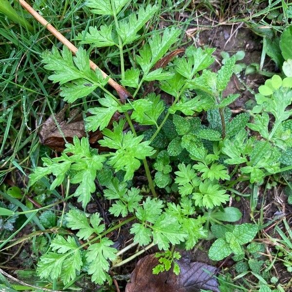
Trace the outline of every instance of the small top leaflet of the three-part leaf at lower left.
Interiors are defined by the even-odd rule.
[[[80,239],[88,239],[93,233],[100,234],[104,231],[105,225],[101,224],[101,218],[98,213],[91,216],[90,222],[92,227],[89,225],[88,219],[85,213],[79,210],[70,210],[67,215],[67,226],[72,230],[78,230],[76,236]]]

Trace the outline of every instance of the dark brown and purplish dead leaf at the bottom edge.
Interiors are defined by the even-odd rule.
[[[178,261],[181,273],[176,276],[171,269],[158,275],[152,269],[159,264],[154,255],[145,256],[137,263],[125,292],[199,292],[201,289],[219,292],[216,268],[183,258]],[[207,272],[205,272],[207,271]]]

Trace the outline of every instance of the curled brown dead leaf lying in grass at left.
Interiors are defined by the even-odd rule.
[[[56,151],[62,151],[65,146],[64,138],[67,142],[72,142],[76,135],[78,138],[86,135],[84,121],[78,110],[71,110],[69,117],[66,118],[66,111],[69,106],[66,105],[63,110],[56,113],[55,119],[51,115],[43,124],[39,132],[40,143]],[[57,122],[57,124],[56,124]],[[59,127],[58,127],[58,126]]]

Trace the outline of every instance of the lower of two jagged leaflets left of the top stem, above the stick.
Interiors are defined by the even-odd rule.
[[[79,33],[76,40],[80,40],[80,44],[92,44],[94,47],[110,47],[116,45],[111,36],[112,25],[101,25],[99,30],[90,26],[89,32],[83,31]]]

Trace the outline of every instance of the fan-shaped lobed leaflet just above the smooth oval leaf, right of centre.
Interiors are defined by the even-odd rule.
[[[200,192],[193,193],[192,197],[196,206],[204,206],[211,209],[229,200],[229,195],[226,194],[226,191],[220,189],[219,184],[213,184],[209,180],[200,183],[199,190]]]

